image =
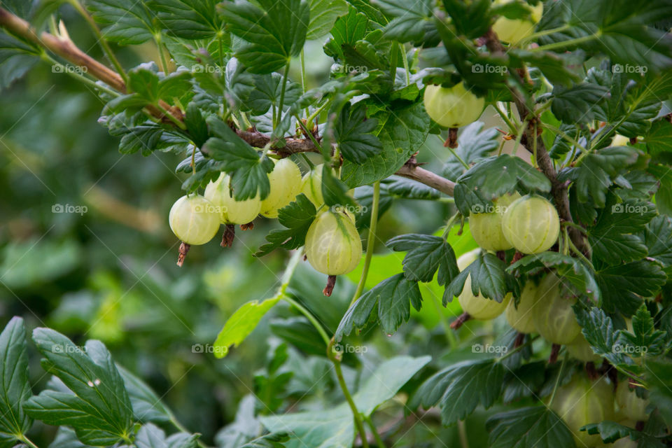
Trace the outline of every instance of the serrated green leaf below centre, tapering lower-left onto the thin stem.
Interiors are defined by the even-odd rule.
[[[422,307],[418,283],[407,280],[404,274],[393,275],[359,297],[343,316],[334,337],[340,341],[343,335],[350,335],[353,328],[365,327],[371,316],[391,335],[408,321],[411,305],[418,311]]]

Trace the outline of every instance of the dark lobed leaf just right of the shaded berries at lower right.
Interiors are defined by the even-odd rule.
[[[624,364],[626,362],[624,354],[621,351],[614,351],[617,330],[615,330],[611,318],[597,307],[589,310],[575,307],[574,311],[576,319],[582,327],[581,332],[593,351],[612,364]]]

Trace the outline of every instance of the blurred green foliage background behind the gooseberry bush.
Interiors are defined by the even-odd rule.
[[[62,11],[73,41],[101,59],[83,22],[68,8]],[[307,44],[309,87],[328,78],[331,61],[321,45]],[[116,50],[127,68],[157,58],[151,45]],[[292,76],[300,80],[297,71]],[[52,73],[45,63],[0,92],[0,324],[20,315],[29,328],[49,326],[77,344],[101,339],[118,363],[147,381],[183,425],[202,433],[209,444],[250,393],[266,391],[262,400],[277,412],[341,401],[319,338],[284,304],[227,358],[198,352],[207,345],[195,344],[213,342],[240,304],[272,295],[288,254],[278,251],[262,259],[251,254],[278,224],[260,218],[254,230],[238,232],[233,248],[222,249],[214,240],[192,248],[184,267],[177,267],[179,241],[169,230],[167,214],[182,195],[183,178],[174,172],[181,158],[120,154],[118,141],[96,123],[101,109],[101,100],[87,87],[66,74]],[[487,120],[492,116],[484,113]],[[430,135],[419,150],[419,160],[442,171],[448,153],[436,136]],[[402,255],[388,253],[383,241],[403,233],[436,232],[451,207],[449,201],[393,202],[381,217],[379,255],[367,286],[400,272]],[[468,232],[455,238],[458,254],[475,246]],[[335,294],[323,297],[324,281],[325,276],[302,263],[291,290],[333,331],[354,286],[339,279]],[[458,304],[442,310],[437,284],[423,288],[425,307],[413,317],[421,325],[405,325],[393,337],[377,328],[358,337],[366,339],[367,352],[346,356],[348,381],[360,381],[358,365],[375,365],[396,354],[429,352],[434,369],[444,362],[451,343],[446,325],[459,313]],[[255,374],[265,375],[276,349],[288,343],[283,368],[293,370],[293,377],[270,386],[255,381]],[[460,356],[455,353],[449,356]],[[48,375],[38,365],[36,351],[30,355],[37,393]],[[422,446],[426,441],[426,446],[435,446],[432,441],[439,438],[440,446],[450,446],[449,440],[457,440],[457,429],[441,428],[438,416],[428,415],[426,424],[414,425],[412,416],[398,416],[400,409],[384,407],[377,419],[397,425],[407,444]],[[474,428],[468,431],[472,446],[485,443],[483,419],[477,413],[467,423]],[[33,432],[37,444],[46,446],[54,428],[36,426]]]

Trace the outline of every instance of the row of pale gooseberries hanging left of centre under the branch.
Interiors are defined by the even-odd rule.
[[[178,265],[183,264],[190,246],[206,244],[215,237],[221,224],[225,225],[221,246],[230,247],[235,225],[247,230],[253,228],[253,221],[259,215],[276,218],[279,209],[303,193],[318,210],[306,235],[306,257],[314,269],[329,276],[324,293],[330,295],[335,276],[357,267],[362,256],[362,241],[350,211],[325,208],[322,171],[323,165],[318,165],[302,176],[295,162],[284,158],[274,162],[274,169],[268,174],[270,192],[263,200],[258,196],[237,200],[231,177],[226,173],[210,182],[204,195],[181,197],[173,204],[168,218],[171,230],[181,240]]]

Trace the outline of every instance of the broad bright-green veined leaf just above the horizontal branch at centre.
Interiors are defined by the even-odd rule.
[[[429,116],[421,103],[386,109],[390,116],[378,134],[383,150],[362,165],[345,160],[341,179],[355,188],[386,179],[394,174],[427,138]],[[381,117],[376,116],[379,120]]]

